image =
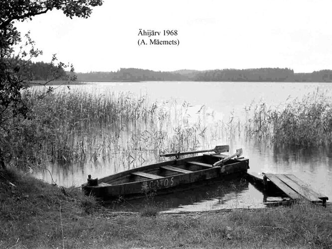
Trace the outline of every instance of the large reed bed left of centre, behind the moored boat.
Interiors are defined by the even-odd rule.
[[[222,139],[216,125],[207,127],[205,107],[198,119],[188,114],[190,104],[151,103],[131,93],[86,93],[75,90],[23,94],[34,119],[15,133],[14,164],[116,160],[126,167],[141,166],[160,153],[194,150]],[[215,146],[215,143],[212,144]],[[22,149],[23,148],[23,149]],[[25,148],[25,149],[24,149]]]

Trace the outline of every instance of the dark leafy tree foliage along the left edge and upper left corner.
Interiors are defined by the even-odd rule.
[[[22,42],[20,33],[14,26],[15,21],[32,19],[33,16],[46,13],[52,9],[62,10],[72,18],[73,16],[87,18],[91,14],[91,7],[102,5],[102,0],[6,0],[0,1],[0,163],[4,167],[4,148],[11,142],[11,133],[26,128],[26,120],[33,118],[21,97],[21,91],[28,87],[35,78],[31,60],[42,54],[35,49],[29,34]],[[18,52],[14,50],[19,48]],[[53,55],[46,72],[46,85],[54,79],[64,76],[64,68],[70,67],[57,62]],[[75,77],[68,76],[68,80]],[[52,89],[49,88],[49,91]],[[33,138],[31,138],[33,139]],[[10,151],[7,151],[10,153]]]

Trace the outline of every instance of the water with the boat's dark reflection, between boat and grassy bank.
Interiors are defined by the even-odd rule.
[[[194,212],[233,208],[262,208],[263,195],[244,178],[214,179],[174,189],[175,192],[156,195],[147,201],[144,197],[106,206],[119,211],[140,211],[147,203],[163,212]]]

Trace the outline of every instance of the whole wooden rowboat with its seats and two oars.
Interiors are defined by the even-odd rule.
[[[231,156],[221,154],[228,151],[229,146],[216,146],[211,150],[176,152],[161,156],[180,155],[214,151],[214,154],[175,159],[166,162],[151,164],[101,179],[92,179],[82,185],[86,194],[97,198],[112,199],[118,196],[144,195],[152,191],[171,189],[183,184],[208,180],[216,177],[246,173],[249,168],[249,159],[239,157],[242,149]],[[237,156],[237,158],[233,158]]]

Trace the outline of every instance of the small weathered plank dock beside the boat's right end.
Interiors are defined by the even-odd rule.
[[[265,174],[263,173],[263,181],[268,186],[268,179],[282,190],[287,196],[293,200],[306,199],[313,203],[323,203],[326,206],[326,201],[329,198],[325,195],[314,191],[307,183],[293,174]]]

